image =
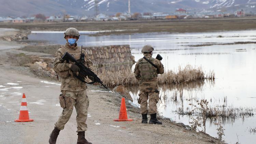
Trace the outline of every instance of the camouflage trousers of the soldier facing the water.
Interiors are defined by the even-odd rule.
[[[140,104],[141,114],[154,114],[157,113],[157,102],[159,100],[159,92],[145,92],[140,91],[138,103]],[[149,99],[149,100],[148,100]],[[149,110],[147,110],[147,100]]]

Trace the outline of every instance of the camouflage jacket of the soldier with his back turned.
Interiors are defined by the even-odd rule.
[[[141,71],[143,71],[143,68],[140,67],[140,65],[141,65],[141,62],[144,62],[144,63],[146,62],[146,60],[143,58],[141,58],[137,61],[135,69],[134,69],[134,74],[135,74],[136,79],[139,81],[141,91],[153,92],[155,90],[158,90],[157,74],[163,74],[165,72],[165,70],[163,68],[161,61],[159,61],[158,59],[152,58],[152,55],[144,54],[144,57],[146,57],[147,59],[151,59],[151,61],[157,66],[157,68],[155,68],[153,66],[150,67],[153,70],[152,72],[154,72],[153,78],[150,78],[150,79],[142,78],[143,75],[141,75],[142,74]],[[150,63],[148,63],[148,64],[150,64]],[[147,73],[144,72],[144,74],[146,75]]]

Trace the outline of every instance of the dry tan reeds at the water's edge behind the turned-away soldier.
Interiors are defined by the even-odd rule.
[[[102,69],[98,73],[102,82],[108,87],[115,87],[118,85],[136,86],[139,82],[134,76],[134,73],[130,69],[124,69],[123,71],[107,71]],[[201,67],[192,67],[187,65],[185,68],[179,67],[176,71],[167,71],[164,74],[158,76],[158,84],[181,84],[189,82],[197,82],[203,80],[214,80],[215,73],[211,71],[205,74]]]

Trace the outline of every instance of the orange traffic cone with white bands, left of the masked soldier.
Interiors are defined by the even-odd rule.
[[[20,111],[19,111],[19,119],[14,120],[15,122],[29,122],[29,121],[34,121],[33,119],[29,119],[28,115],[28,107],[27,107],[27,101],[26,101],[26,96],[25,93],[23,93],[22,96],[22,104],[20,106]]]

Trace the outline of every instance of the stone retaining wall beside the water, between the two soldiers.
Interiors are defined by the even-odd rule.
[[[94,66],[135,63],[129,45],[91,46],[83,48]]]

